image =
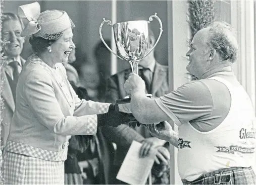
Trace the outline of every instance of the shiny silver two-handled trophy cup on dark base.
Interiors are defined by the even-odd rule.
[[[152,18],[156,18],[160,24],[160,34],[155,45],[148,51],[149,39],[148,39],[148,24],[153,21]],[[118,58],[126,60],[130,63],[133,73],[138,74],[138,62],[145,58],[158,44],[163,32],[163,25],[160,18],[155,15],[149,17],[149,21],[128,21],[122,23],[113,24],[109,20],[105,20],[99,26],[99,37],[105,46]],[[105,23],[113,28],[114,38],[119,54],[118,56],[114,51],[106,44],[101,33],[101,29]],[[147,95],[151,97],[151,95]],[[116,111],[127,111],[129,109],[130,96],[121,100],[116,100]]]

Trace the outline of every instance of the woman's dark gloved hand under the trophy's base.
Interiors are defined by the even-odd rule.
[[[109,112],[105,114],[98,114],[98,127],[101,126],[112,126],[118,127],[121,124],[137,122],[137,120],[128,113],[116,112],[113,104],[109,107]]]

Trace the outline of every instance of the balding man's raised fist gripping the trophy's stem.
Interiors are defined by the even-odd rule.
[[[124,89],[128,95],[132,95],[137,91],[145,93],[145,82],[139,75],[130,73],[128,79],[124,83]]]

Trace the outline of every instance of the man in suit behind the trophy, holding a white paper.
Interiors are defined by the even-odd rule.
[[[156,39],[150,29],[148,32],[149,50],[155,44]],[[109,78],[107,82],[106,102],[115,103],[117,99],[123,99],[127,96],[124,90],[124,83],[131,72],[131,68],[125,69]],[[155,60],[153,51],[146,58],[139,61],[139,75],[147,84],[147,88],[145,89],[147,94],[160,97],[169,92],[168,67],[159,64]],[[142,125],[135,128],[129,127],[129,125],[120,125],[117,128],[103,127],[101,129],[103,130],[104,136],[108,140],[111,140],[112,142],[117,144],[114,166],[112,168],[114,178],[112,183],[124,183],[116,179],[116,175],[133,140],[141,142],[143,144],[143,151],[141,149],[142,156],[143,152],[144,154],[147,153],[152,147],[158,147],[160,152],[167,152],[167,155],[170,155],[169,149],[167,150],[163,147],[166,142],[152,137],[148,130]],[[153,168],[157,168],[157,170],[152,170],[152,183],[169,184],[169,166],[164,165],[163,163],[159,165],[155,164]]]

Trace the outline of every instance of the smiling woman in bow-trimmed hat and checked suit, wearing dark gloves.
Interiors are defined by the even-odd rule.
[[[7,184],[64,184],[69,135],[95,135],[97,127],[116,127],[130,117],[75,94],[62,64],[75,48],[75,26],[66,12],[40,13],[35,2],[20,6],[19,15],[29,20],[21,35],[32,35],[36,52],[19,77],[3,176]]]

